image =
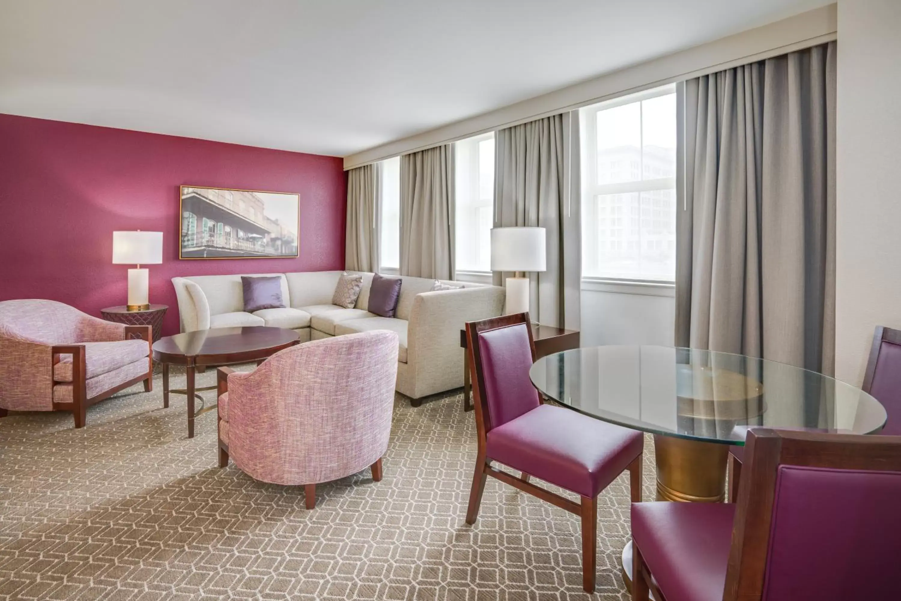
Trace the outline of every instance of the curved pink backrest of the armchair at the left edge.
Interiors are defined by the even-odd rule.
[[[79,341],[82,325],[91,319],[74,306],[57,301],[24,298],[0,303],[0,335],[42,344]]]

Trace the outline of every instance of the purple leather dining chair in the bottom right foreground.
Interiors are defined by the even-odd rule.
[[[748,434],[737,504],[632,505],[633,601],[897,598],[901,436]]]

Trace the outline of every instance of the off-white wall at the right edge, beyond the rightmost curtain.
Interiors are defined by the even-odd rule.
[[[835,375],[859,385],[901,328],[901,0],[840,0],[838,28]]]

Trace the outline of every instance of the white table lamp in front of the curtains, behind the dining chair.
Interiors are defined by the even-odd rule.
[[[506,278],[504,313],[529,310],[529,278],[526,271],[546,271],[547,252],[543,227],[496,227],[491,230],[491,270],[513,271]],[[517,277],[523,272],[523,278]]]

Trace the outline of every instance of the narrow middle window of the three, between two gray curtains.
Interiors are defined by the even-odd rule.
[[[488,272],[494,224],[495,134],[461,140],[454,152],[457,269]]]

